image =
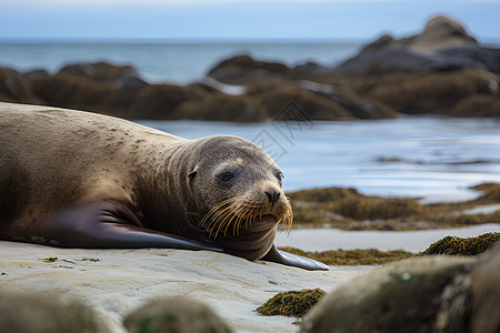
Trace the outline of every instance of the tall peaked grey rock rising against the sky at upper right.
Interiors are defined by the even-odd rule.
[[[464,68],[498,71],[500,50],[482,48],[460,23],[437,17],[420,34],[401,40],[381,37],[332,72],[381,75],[398,71],[436,72]]]

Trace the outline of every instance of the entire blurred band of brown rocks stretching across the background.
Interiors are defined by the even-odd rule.
[[[68,64],[57,73],[0,68],[0,101],[127,119],[261,122],[294,102],[313,120],[387,119],[398,113],[500,117],[500,49],[483,47],[447,18],[422,33],[383,36],[334,67],[290,68],[242,54],[188,85],[147,82],[131,65]],[[229,93],[228,85],[238,85]]]

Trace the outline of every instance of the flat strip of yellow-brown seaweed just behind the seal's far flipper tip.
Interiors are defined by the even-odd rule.
[[[296,248],[280,248],[280,250],[321,261],[327,265],[381,265],[403,260],[414,254],[402,250],[380,251],[369,250],[330,250],[323,252],[307,252]]]

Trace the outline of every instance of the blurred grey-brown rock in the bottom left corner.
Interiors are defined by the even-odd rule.
[[[58,294],[0,295],[0,332],[113,332],[91,307]],[[116,331],[114,331],[116,332]]]

